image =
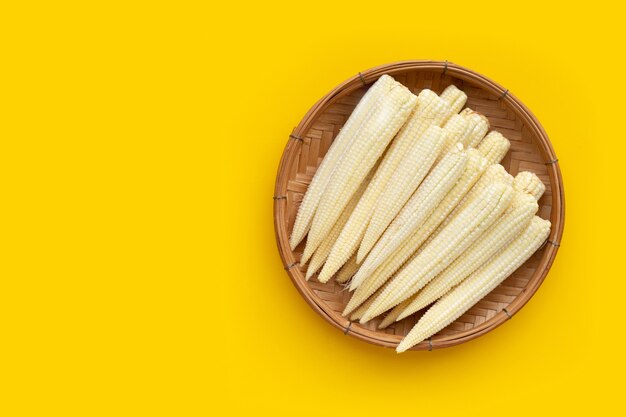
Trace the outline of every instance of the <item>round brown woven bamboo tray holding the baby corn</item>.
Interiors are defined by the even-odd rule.
[[[304,279],[306,267],[298,263],[304,242],[295,251],[289,236],[300,201],[330,144],[369,86],[389,74],[416,94],[423,88],[441,93],[455,84],[468,96],[467,106],[484,114],[492,129],[511,141],[502,165],[512,175],[532,171],[546,185],[538,215],[552,222],[548,242],[513,275],[465,315],[413,347],[432,350],[458,345],[487,333],[510,319],[528,302],[543,282],[559,248],[565,215],[563,183],[558,159],[539,121],[509,90],[462,66],[448,61],[404,61],[360,72],[319,100],[289,135],[274,194],[276,241],[285,270],[304,299],[344,334],[384,347],[395,348],[423,311],[378,330],[382,316],[365,325],[341,316],[350,294],[331,279],[320,284]],[[384,315],[383,315],[384,316]]]

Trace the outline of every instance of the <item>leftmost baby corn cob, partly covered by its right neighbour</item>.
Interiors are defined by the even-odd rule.
[[[328,149],[328,152],[324,156],[320,166],[317,168],[317,171],[311,180],[311,184],[309,184],[306,194],[302,199],[300,208],[298,209],[298,214],[296,215],[296,221],[289,241],[292,250],[298,246],[311,228],[311,222],[313,220],[315,210],[319,205],[322,194],[326,189],[328,181],[330,181],[339,160],[347,149],[350,148],[352,142],[357,136],[357,133],[359,132],[360,127],[368,118],[372,116],[379,106],[380,99],[386,94],[387,91],[389,91],[394,83],[394,79],[388,75],[380,77],[378,81],[370,87],[367,93],[365,93],[363,98],[361,98],[359,104],[355,107],[354,111],[352,111],[352,114]]]

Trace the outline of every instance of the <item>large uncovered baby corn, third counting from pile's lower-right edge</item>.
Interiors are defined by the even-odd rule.
[[[513,188],[508,184],[497,182],[487,187],[390,281],[361,317],[361,322],[400,304],[424,287],[500,217],[511,202],[512,195]]]

